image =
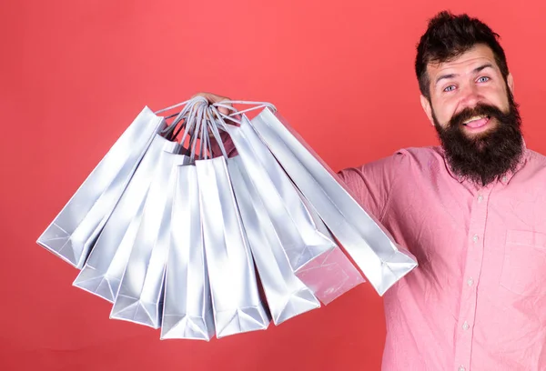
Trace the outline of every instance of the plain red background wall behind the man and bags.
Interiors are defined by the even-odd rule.
[[[335,170],[436,144],[413,73],[437,11],[502,36],[527,144],[546,152],[546,3],[0,2],[0,369],[379,370],[381,298],[365,284],[267,331],[160,341],[108,319],[76,269],[35,245],[144,105],[198,91],[265,100]]]

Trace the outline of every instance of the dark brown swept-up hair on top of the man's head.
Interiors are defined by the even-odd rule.
[[[509,73],[508,64],[504,50],[499,44],[499,38],[500,36],[488,25],[466,14],[452,15],[448,11],[443,11],[430,19],[427,32],[420,38],[415,59],[415,72],[421,94],[430,100],[430,77],[427,74],[427,65],[449,62],[479,44],[490,47],[506,81]]]

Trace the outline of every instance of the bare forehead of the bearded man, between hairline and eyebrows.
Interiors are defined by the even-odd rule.
[[[493,51],[487,45],[475,45],[461,55],[442,63],[430,63],[427,65],[427,72],[431,79],[435,75],[450,72],[472,71],[475,67],[483,64],[491,64],[498,69]]]

